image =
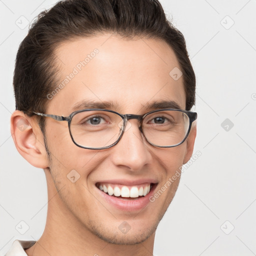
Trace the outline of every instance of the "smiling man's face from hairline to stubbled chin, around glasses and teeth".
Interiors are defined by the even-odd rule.
[[[98,52],[90,55],[87,64],[79,65],[95,48]],[[47,102],[49,114],[68,116],[74,111],[73,106],[83,100],[112,102],[109,108],[122,114],[144,114],[154,110],[146,105],[166,100],[185,109],[182,77],[174,80],[169,75],[179,64],[165,42],[127,40],[105,34],[64,42],[55,54],[59,82],[71,72],[75,75]],[[79,104],[75,110],[86,107],[91,105]],[[188,160],[188,142],[172,148],[154,147],[146,142],[138,124],[136,119],[129,120],[128,129],[116,145],[91,150],[72,142],[66,121],[46,117],[45,134],[51,159],[51,175],[47,177],[53,179],[59,190],[60,203],[55,210],[63,223],[69,221],[79,233],[89,230],[119,244],[141,242],[153,234],[175,194],[179,178],[153,202],[149,197]],[[138,199],[117,198],[99,189],[100,184],[144,188],[150,183],[153,186],[149,194]]]

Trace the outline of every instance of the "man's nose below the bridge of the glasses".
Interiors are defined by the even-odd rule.
[[[129,120],[121,139],[112,147],[112,162],[128,170],[141,170],[152,162],[150,147],[139,130],[138,121]]]

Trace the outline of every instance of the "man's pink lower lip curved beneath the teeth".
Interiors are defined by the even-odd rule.
[[[143,209],[150,201],[149,198],[153,194],[153,191],[156,187],[156,184],[153,184],[149,193],[145,196],[142,196],[138,199],[127,199],[123,200],[118,197],[108,195],[104,191],[101,191],[99,188],[96,187],[97,191],[99,192],[100,196],[104,198],[105,201],[107,201],[109,204],[115,206],[116,208],[120,210],[141,210]]]

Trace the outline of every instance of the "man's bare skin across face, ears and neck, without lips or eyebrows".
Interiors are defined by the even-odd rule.
[[[163,41],[100,34],[63,42],[55,51],[60,81],[76,64],[93,51],[91,59],[52,99],[49,114],[68,116],[72,106],[83,99],[114,101],[119,113],[143,114],[153,109],[145,105],[156,100],[175,100],[185,109],[182,77],[174,80],[170,70],[179,67],[173,50]],[[113,147],[90,150],[76,146],[70,138],[66,121],[45,117],[47,157],[43,135],[36,117],[15,110],[11,133],[19,153],[32,165],[43,168],[47,181],[48,210],[44,232],[29,249],[28,255],[152,255],[156,227],[178,186],[177,178],[154,201],[140,211],[111,207],[95,186],[97,180],[112,178],[134,180],[154,178],[157,191],[192,155],[196,125],[189,137],[172,148],[148,144],[131,119],[131,126]],[[21,131],[17,122],[27,127]],[[80,178],[67,178],[75,169]],[[127,233],[118,226],[126,221]]]

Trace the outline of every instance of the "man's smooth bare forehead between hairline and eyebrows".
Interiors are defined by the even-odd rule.
[[[185,108],[182,76],[173,79],[169,74],[180,66],[162,40],[101,34],[63,42],[55,56],[58,89],[48,110],[70,114],[82,100],[111,101],[114,110],[126,113],[161,100]]]

